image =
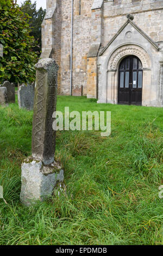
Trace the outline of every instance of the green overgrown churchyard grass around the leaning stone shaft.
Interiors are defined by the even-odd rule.
[[[31,154],[33,112],[0,107],[1,245],[162,245],[163,109],[58,97],[58,110],[111,111],[112,132],[57,132],[66,194],[27,209],[21,162]]]

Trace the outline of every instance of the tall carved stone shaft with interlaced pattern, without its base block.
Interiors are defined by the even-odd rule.
[[[54,59],[41,59],[36,65],[36,87],[32,134],[32,156],[45,165],[54,161],[55,131],[53,112],[57,104],[58,65]]]

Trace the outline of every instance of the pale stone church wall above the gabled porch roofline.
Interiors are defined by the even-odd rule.
[[[162,0],[108,0],[104,1],[104,46],[126,22],[129,13],[134,15],[136,25],[154,41],[163,41]]]

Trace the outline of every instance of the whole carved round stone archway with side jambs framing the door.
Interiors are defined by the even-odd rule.
[[[146,102],[147,88],[151,86],[151,57],[141,46],[122,45],[116,48],[105,60],[105,95],[106,103],[118,103],[118,67],[124,57],[134,55],[141,60],[143,67],[142,105]]]

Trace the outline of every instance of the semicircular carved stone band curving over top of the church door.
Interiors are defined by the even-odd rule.
[[[143,50],[140,46],[126,45],[121,46],[114,53],[112,53],[109,59],[108,69],[115,70],[119,61],[128,55],[137,56],[141,60],[143,68],[149,67],[149,56],[145,50]]]

